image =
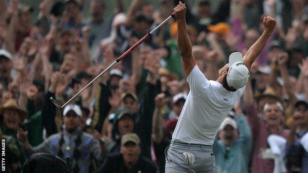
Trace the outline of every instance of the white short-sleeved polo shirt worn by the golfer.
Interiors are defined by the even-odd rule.
[[[212,145],[220,125],[239,101],[245,87],[228,91],[219,82],[207,80],[197,65],[188,75],[187,82],[190,92],[172,139]]]

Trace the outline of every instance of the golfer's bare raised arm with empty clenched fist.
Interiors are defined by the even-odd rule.
[[[244,55],[243,63],[246,65],[248,69],[250,69],[252,63],[255,61],[255,59],[259,56],[261,53],[265,43],[269,39],[269,36],[273,32],[276,21],[275,19],[271,17],[264,17],[263,19],[263,25],[265,27],[265,30],[263,34],[259,37],[259,39],[249,48],[247,53]]]

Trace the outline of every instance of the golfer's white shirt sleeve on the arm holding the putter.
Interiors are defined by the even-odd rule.
[[[194,66],[190,74],[187,76],[187,82],[190,86],[192,97],[197,97],[203,94],[211,85],[197,65]]]

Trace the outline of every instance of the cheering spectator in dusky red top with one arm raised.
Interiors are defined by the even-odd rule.
[[[285,139],[288,138],[289,131],[284,130],[282,126],[284,107],[272,97],[262,108],[263,116],[258,116],[250,82],[243,94],[243,101],[253,139],[251,172],[272,173],[275,164],[274,155],[268,144],[268,137],[275,134]]]

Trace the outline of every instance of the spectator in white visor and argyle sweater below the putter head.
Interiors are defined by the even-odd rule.
[[[79,127],[81,115],[81,109],[77,104],[65,106],[63,132],[50,136],[36,147],[30,146],[27,132],[19,131],[18,138],[23,143],[27,157],[39,152],[49,153],[65,160],[70,172],[91,173],[95,171],[92,161],[101,160],[101,147],[92,135],[81,131]]]

